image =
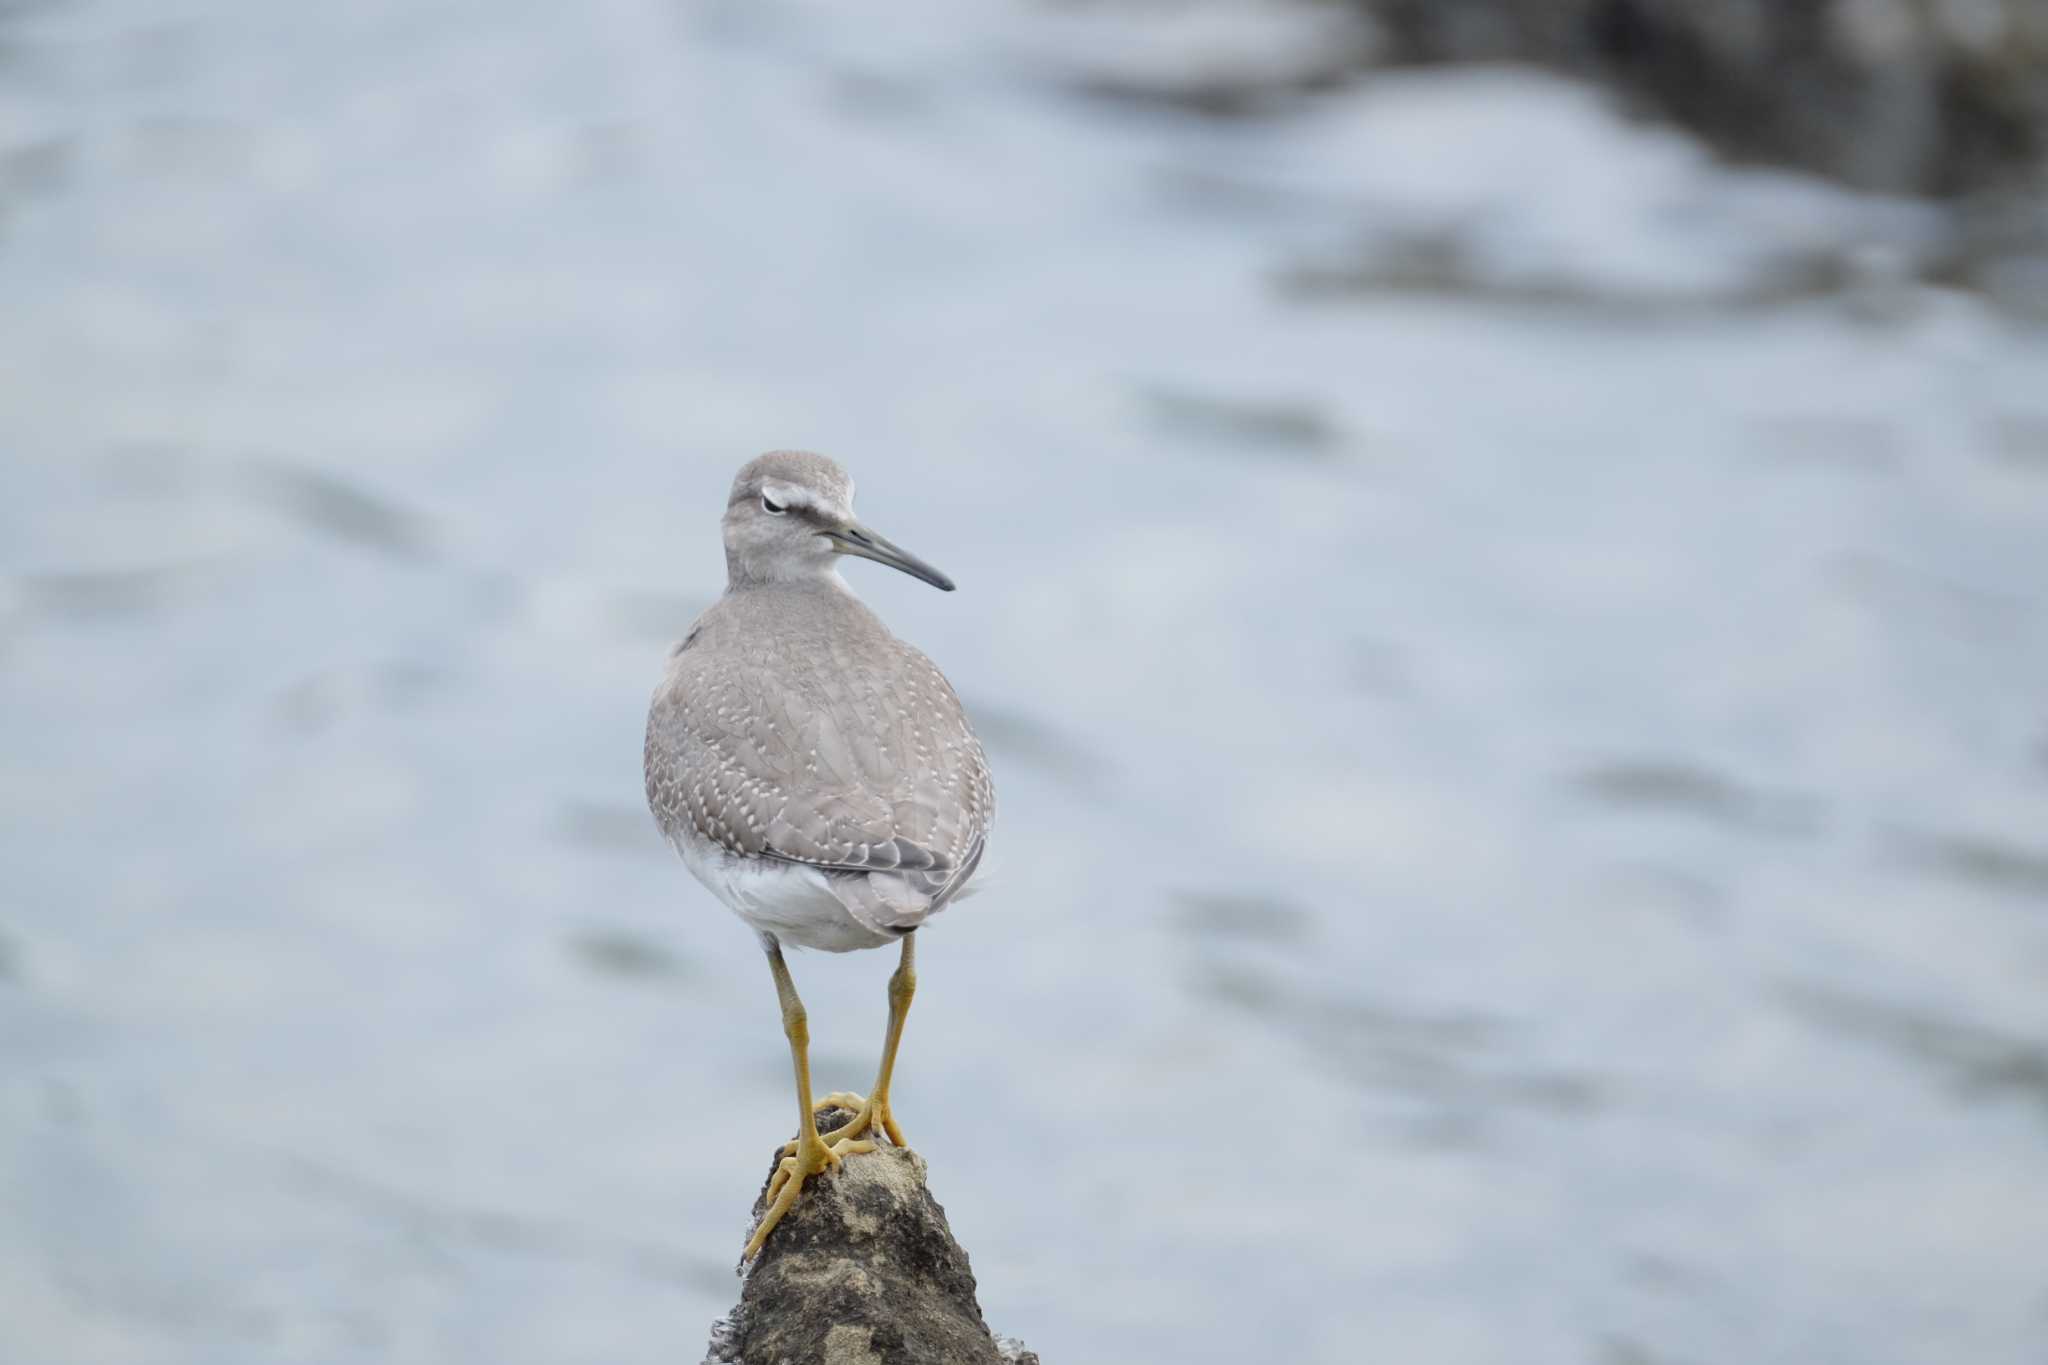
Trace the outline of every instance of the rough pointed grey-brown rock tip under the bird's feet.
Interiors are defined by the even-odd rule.
[[[848,1117],[827,1109],[817,1126]],[[881,1146],[805,1183],[713,1324],[705,1365],[1038,1365],[981,1320],[975,1273],[924,1175],[918,1152]],[[762,1181],[756,1220],[766,1195]]]

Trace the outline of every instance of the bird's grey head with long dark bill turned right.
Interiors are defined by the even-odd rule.
[[[725,569],[733,583],[788,583],[858,555],[952,591],[952,579],[854,518],[854,481],[809,450],[745,463],[725,503]]]

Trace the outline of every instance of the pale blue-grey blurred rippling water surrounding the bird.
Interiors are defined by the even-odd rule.
[[[639,731],[809,444],[963,585],[850,571],[999,1330],[2042,1359],[2048,340],[1573,86],[1174,90],[1323,25],[0,12],[0,1357],[694,1359],[786,1072]]]

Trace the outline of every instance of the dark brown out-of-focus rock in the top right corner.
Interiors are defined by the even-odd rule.
[[[1870,190],[2036,186],[2044,0],[1352,0],[1389,61],[1595,76],[1726,151]]]

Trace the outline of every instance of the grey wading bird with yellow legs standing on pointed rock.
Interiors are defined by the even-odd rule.
[[[733,477],[721,522],[725,593],[670,653],[647,708],[647,806],[690,874],[768,954],[797,1081],[799,1128],[741,1263],[811,1177],[881,1138],[918,988],[915,937],[969,890],[995,823],[995,784],[946,675],[840,577],[870,559],[942,591],[944,573],[854,518],[854,481],[809,450],[770,450]],[[784,945],[899,943],[872,1089],[811,1097],[809,1019]],[[852,1117],[825,1134],[817,1111]]]

